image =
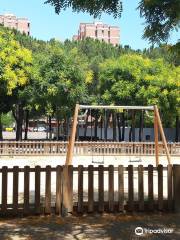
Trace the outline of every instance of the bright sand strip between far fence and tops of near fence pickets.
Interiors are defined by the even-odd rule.
[[[40,165],[41,167],[45,167],[47,165],[51,165],[52,167],[56,167],[57,165],[65,164],[66,156],[14,156],[14,157],[5,157],[0,156],[0,167],[2,166],[19,166],[24,167],[26,165],[30,167],[34,167],[36,165]],[[180,156],[172,156],[171,157],[172,164],[180,164]],[[168,161],[165,156],[160,156],[159,163],[167,166]],[[138,166],[142,164],[143,166],[148,166],[148,164],[152,164],[156,166],[155,156],[74,156],[73,157],[73,166],[83,165],[88,166],[93,164],[94,166],[98,166],[99,164],[103,164],[104,166],[108,166],[110,164],[114,166],[118,166],[120,164],[124,166],[128,166],[129,164],[133,164],[134,166]]]

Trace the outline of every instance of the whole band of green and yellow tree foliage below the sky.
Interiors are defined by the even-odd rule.
[[[90,38],[46,42],[0,27],[0,50],[0,118],[13,113],[17,140],[29,118],[67,122],[77,102],[157,104],[165,126],[180,115],[179,59],[167,44],[135,51]]]

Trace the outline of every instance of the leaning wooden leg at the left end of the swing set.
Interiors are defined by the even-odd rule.
[[[79,112],[79,104],[76,104],[75,111],[74,111],[74,117],[73,117],[73,123],[72,123],[72,129],[71,129],[71,135],[68,143],[68,151],[66,155],[66,165],[72,165],[72,158],[73,158],[73,151],[74,151],[74,143],[76,139],[76,128],[78,123],[78,112]]]

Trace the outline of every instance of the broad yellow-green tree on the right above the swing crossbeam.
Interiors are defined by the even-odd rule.
[[[99,78],[102,103],[156,104],[161,110],[164,125],[175,126],[175,120],[180,115],[180,67],[167,64],[162,59],[150,60],[128,54],[102,63]],[[151,119],[147,121],[150,122]]]

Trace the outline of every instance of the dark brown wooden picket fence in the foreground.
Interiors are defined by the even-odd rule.
[[[45,173],[45,174],[44,174]],[[85,173],[87,174],[85,177]],[[157,195],[154,193],[155,173],[157,174]],[[12,174],[12,202],[9,202],[8,180]],[[23,181],[20,181],[23,174]],[[33,176],[32,176],[33,174]],[[96,177],[95,177],[96,174]],[[147,174],[148,184],[145,184]],[[166,184],[164,175],[166,174]],[[58,215],[85,212],[124,212],[124,211],[180,211],[180,165],[153,167],[114,167],[103,165],[83,167],[25,166],[19,168],[2,167],[0,216],[51,214]],[[44,183],[42,181],[44,175]],[[135,184],[137,175],[137,184]],[[116,177],[115,177],[116,176]],[[127,176],[127,191],[125,191]],[[53,183],[52,179],[55,177]],[[67,181],[68,180],[68,181]],[[88,180],[87,188],[84,182]],[[95,182],[97,180],[97,187]],[[107,184],[105,184],[107,181]],[[24,182],[23,200],[19,202],[19,187]],[[30,202],[33,184],[33,201]],[[53,190],[53,184],[55,189]],[[75,187],[77,184],[77,188]],[[117,186],[117,188],[115,187]],[[42,188],[45,189],[42,195]],[[86,189],[85,189],[86,188]],[[105,188],[107,190],[105,191]],[[166,189],[167,188],[167,189]],[[146,194],[147,190],[147,194]],[[164,191],[167,196],[164,196]],[[95,194],[97,198],[95,199]],[[107,199],[105,200],[105,195]],[[116,196],[116,198],[115,198]],[[137,198],[135,197],[137,196]]]

